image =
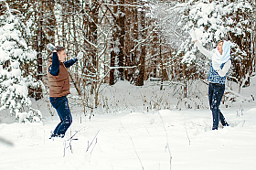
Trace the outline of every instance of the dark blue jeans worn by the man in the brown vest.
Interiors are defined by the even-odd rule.
[[[65,135],[69,126],[72,123],[72,116],[69,110],[69,101],[66,96],[59,98],[49,98],[51,105],[56,109],[59,114],[60,122],[54,130],[54,134]]]

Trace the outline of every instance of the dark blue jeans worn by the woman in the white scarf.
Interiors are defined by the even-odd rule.
[[[218,129],[219,121],[225,125],[227,122],[223,114],[219,110],[219,104],[224,94],[225,84],[209,83],[208,85],[208,101],[212,112],[213,126],[212,129]]]

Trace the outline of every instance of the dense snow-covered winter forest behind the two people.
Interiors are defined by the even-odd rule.
[[[48,43],[65,47],[68,58],[84,53],[69,69],[84,112],[107,111],[113,103],[101,91],[118,81],[138,87],[151,81],[159,90],[172,87],[177,99],[197,98],[197,86],[208,83],[209,61],[192,42],[191,28],[205,48],[231,42],[228,80],[239,89],[228,83],[225,100],[245,99],[240,89],[256,71],[255,21],[254,0],[0,0],[0,110],[39,114],[30,106],[48,96]]]

